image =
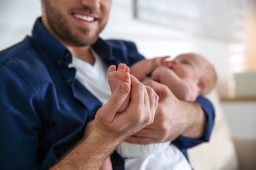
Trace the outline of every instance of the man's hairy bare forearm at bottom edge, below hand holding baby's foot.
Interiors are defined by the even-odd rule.
[[[87,139],[83,139],[52,169],[100,169],[102,163],[113,152],[118,140],[102,138],[93,131]]]

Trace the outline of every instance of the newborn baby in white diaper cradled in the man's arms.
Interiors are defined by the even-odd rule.
[[[183,101],[195,101],[199,95],[210,92],[217,82],[217,74],[206,58],[194,53],[181,54],[171,61],[168,57],[144,59],[131,66],[131,75],[140,81],[149,78],[165,84]],[[123,158],[138,158],[165,150],[170,142],[131,144],[122,142],[117,152]]]

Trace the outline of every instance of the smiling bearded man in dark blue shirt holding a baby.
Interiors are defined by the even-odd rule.
[[[179,101],[166,86],[143,85],[133,76],[131,86],[121,84],[112,97],[100,86],[107,82],[109,65],[144,59],[132,42],[98,38],[111,3],[41,0],[42,17],[33,36],[0,53],[3,169],[99,169],[110,154],[113,168],[123,169],[123,159],[112,152],[130,135],[127,142],[140,144],[176,139],[173,144],[184,154],[209,140],[214,112],[203,97],[200,105]],[[88,74],[85,84],[79,68],[70,66],[75,59],[87,65],[81,70]],[[105,79],[97,80],[95,72]],[[117,113],[128,93],[129,107]],[[83,137],[94,118],[91,135]]]

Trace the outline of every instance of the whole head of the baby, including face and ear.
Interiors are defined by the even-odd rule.
[[[194,80],[200,88],[200,95],[209,93],[217,82],[215,68],[199,54],[186,53],[177,56],[171,69],[180,77]]]

